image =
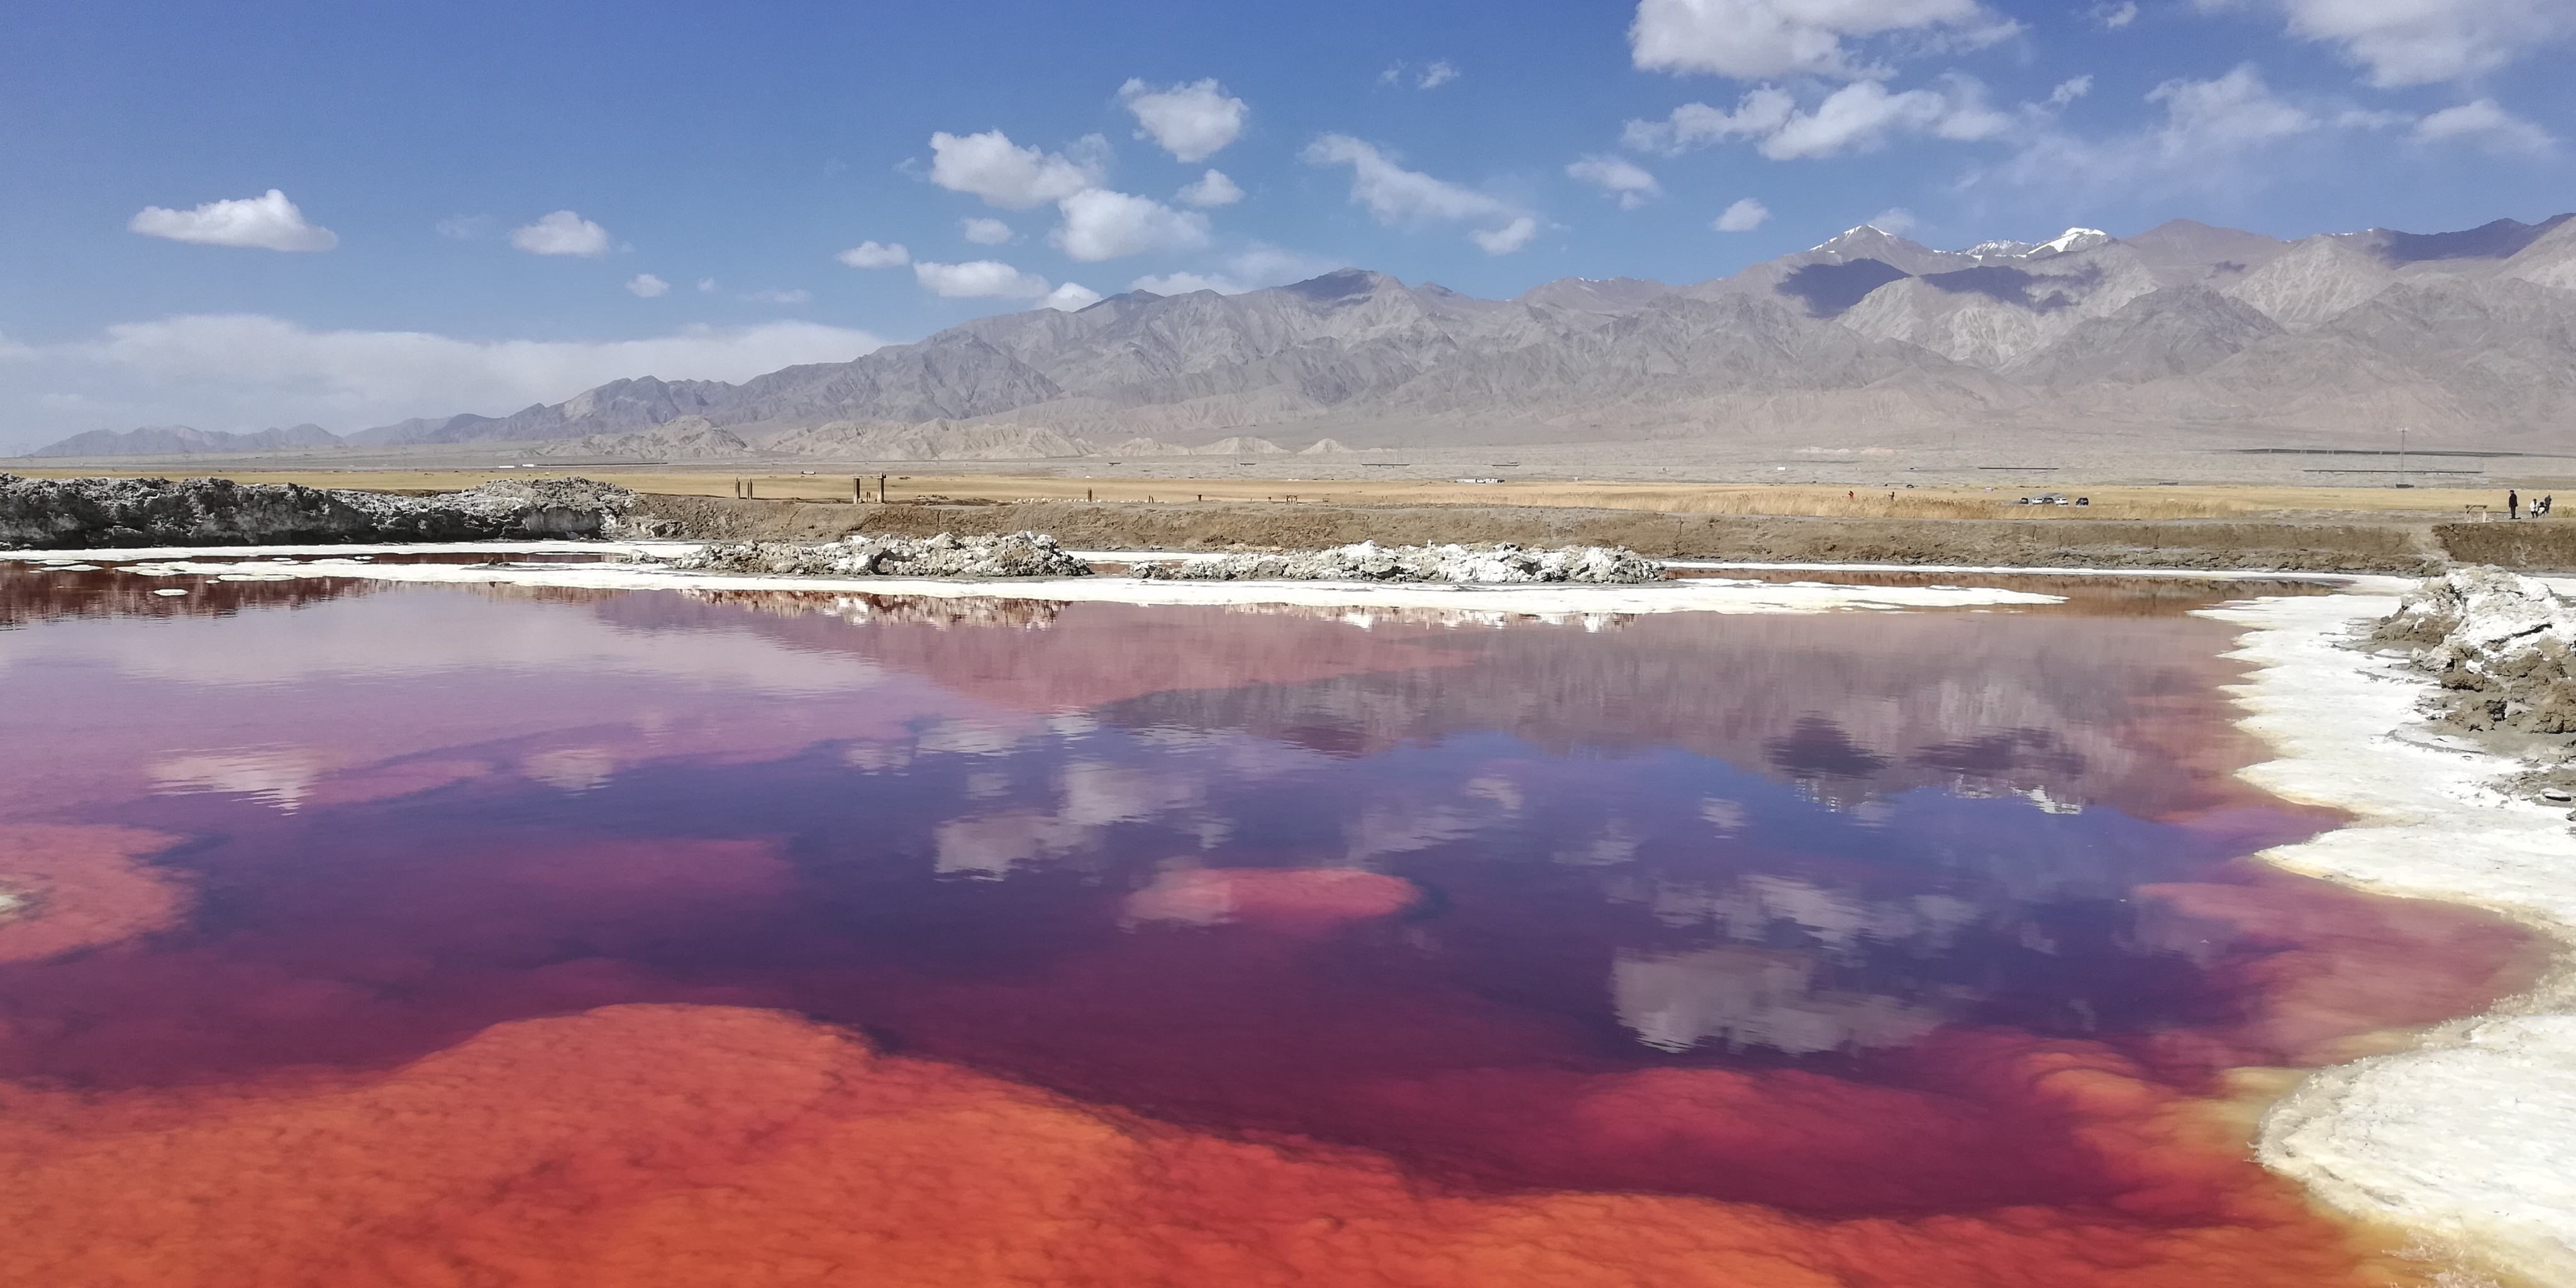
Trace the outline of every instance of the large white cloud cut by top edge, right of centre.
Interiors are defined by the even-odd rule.
[[[1883,70],[1855,62],[1844,39],[1891,31],[1924,33],[1914,44],[1929,52],[1994,44],[2020,26],[1976,0],[1638,0],[1628,52],[1649,72],[1860,80]]]

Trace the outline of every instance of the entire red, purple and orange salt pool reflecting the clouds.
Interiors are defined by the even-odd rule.
[[[0,572],[0,1283],[2383,1285],[2228,629]]]

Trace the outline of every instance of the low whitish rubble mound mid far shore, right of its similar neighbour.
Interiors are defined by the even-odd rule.
[[[1224,554],[1182,564],[1146,564],[1136,574],[1170,582],[1638,585],[1672,580],[1664,564],[1625,546],[1522,549],[1510,541],[1481,546],[1378,546],[1376,541],[1360,541],[1327,551]]]

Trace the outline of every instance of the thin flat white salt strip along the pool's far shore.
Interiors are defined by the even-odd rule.
[[[590,590],[811,590],[837,595],[1012,598],[1064,603],[1311,608],[1476,608],[1499,613],[1832,613],[1868,608],[2002,608],[2061,603],[2058,595],[2004,587],[1888,587],[1824,582],[1731,582],[1692,577],[1646,585],[1445,585],[1445,582],[1190,582],[1144,577],[778,577],[688,572],[665,562],[696,551],[688,541],[531,541],[471,546],[214,546],[82,551],[90,564],[165,577],[366,577],[379,582],[554,585]],[[484,554],[489,564],[376,564],[384,554]],[[629,564],[510,564],[513,554],[613,554]],[[59,551],[0,551],[0,559],[64,562]],[[1108,554],[1105,559],[1115,559]]]

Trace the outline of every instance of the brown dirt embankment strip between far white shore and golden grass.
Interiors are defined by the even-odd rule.
[[[1775,518],[1522,505],[814,505],[647,497],[636,518],[670,536],[829,541],[930,533],[1054,533],[1072,549],[1321,549],[1352,541],[1425,546],[1628,546],[1662,559],[1785,564],[2205,567],[2300,572],[2439,572],[2481,562],[2576,569],[2576,523],[2370,520],[2048,520]]]

